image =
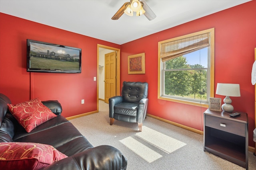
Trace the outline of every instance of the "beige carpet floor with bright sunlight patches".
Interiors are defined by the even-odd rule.
[[[147,117],[142,132],[137,123],[109,125],[108,104],[99,101],[99,113],[70,120],[92,143],[111,145],[128,159],[127,170],[244,170],[203,149],[203,135]],[[256,156],[249,152],[249,170]]]

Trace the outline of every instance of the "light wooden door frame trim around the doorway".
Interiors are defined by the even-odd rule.
[[[120,96],[120,49],[97,44],[97,112],[99,112],[99,48],[116,51],[116,95]]]

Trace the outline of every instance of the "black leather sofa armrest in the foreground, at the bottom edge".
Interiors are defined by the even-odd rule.
[[[127,158],[120,150],[101,145],[48,165],[44,170],[126,170]]]

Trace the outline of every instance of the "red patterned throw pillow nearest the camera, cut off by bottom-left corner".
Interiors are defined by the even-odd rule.
[[[38,170],[66,158],[51,145],[40,143],[0,143],[0,165],[2,170]]]

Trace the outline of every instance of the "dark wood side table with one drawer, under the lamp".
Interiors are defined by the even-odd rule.
[[[230,117],[225,111],[204,112],[204,151],[248,170],[248,116],[239,113]]]

